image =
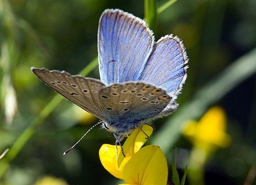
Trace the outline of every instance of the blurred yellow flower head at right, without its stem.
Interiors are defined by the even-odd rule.
[[[226,131],[226,115],[219,106],[210,108],[199,122],[189,121],[183,134],[192,141],[195,147],[215,150],[227,147],[231,141]]]

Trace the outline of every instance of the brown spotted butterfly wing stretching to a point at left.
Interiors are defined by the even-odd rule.
[[[101,114],[98,94],[105,87],[97,79],[71,75],[65,71],[31,68],[47,86],[72,101],[77,106],[104,120]]]

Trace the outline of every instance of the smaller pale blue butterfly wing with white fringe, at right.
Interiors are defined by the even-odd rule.
[[[155,43],[140,80],[166,89],[174,100],[187,77],[187,62],[182,41],[177,36],[166,35]]]

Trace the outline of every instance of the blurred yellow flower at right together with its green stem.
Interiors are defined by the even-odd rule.
[[[188,165],[191,185],[204,185],[204,166],[218,147],[227,147],[231,138],[226,133],[226,115],[219,106],[210,108],[199,122],[185,124],[183,134],[192,142],[193,148]]]

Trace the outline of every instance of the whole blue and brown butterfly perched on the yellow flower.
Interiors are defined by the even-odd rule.
[[[101,80],[59,70],[31,70],[47,86],[102,120],[98,124],[113,132],[116,145],[135,128],[177,109],[175,99],[188,68],[185,47],[177,36],[165,35],[155,43],[145,21],[119,9],[106,9],[99,21],[98,58]]]

